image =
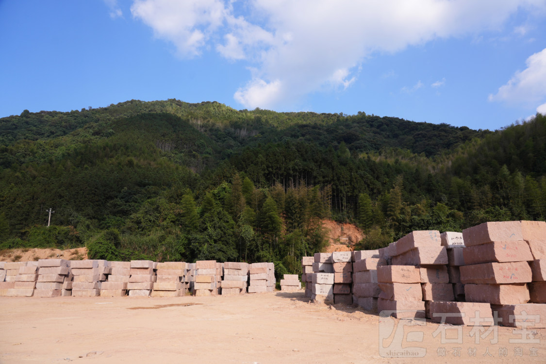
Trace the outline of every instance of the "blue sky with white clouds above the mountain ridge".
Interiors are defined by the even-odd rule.
[[[130,99],[499,129],[546,113],[546,0],[0,0],[0,117]]]

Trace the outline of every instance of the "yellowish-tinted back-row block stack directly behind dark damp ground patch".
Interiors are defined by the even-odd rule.
[[[157,263],[156,282],[153,283],[152,297],[178,297],[186,294],[186,263],[166,261]]]

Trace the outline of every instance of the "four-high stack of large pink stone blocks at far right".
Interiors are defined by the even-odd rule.
[[[463,232],[465,266],[460,267],[467,302],[517,305],[530,299],[532,254],[521,222],[483,223]]]

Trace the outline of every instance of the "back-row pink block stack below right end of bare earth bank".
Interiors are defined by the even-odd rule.
[[[111,271],[110,262],[106,260],[72,260],[70,271],[74,275],[72,282],[73,297],[96,297],[100,287]]]

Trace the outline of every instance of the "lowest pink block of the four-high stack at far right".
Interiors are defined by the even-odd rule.
[[[517,305],[530,300],[525,283],[519,284],[465,284],[467,302],[487,302],[495,305]]]

